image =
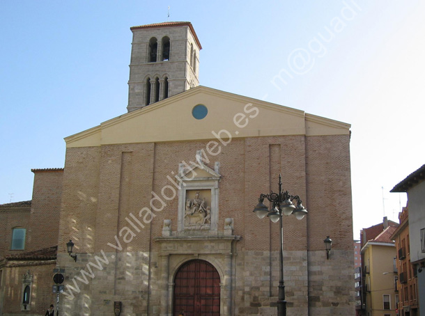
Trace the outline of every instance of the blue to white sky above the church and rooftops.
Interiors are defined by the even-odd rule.
[[[0,203],[63,167],[64,137],[126,113],[130,26],[168,6],[201,41],[201,85],[352,125],[355,237],[398,221],[389,190],[425,164],[420,1],[0,0]]]

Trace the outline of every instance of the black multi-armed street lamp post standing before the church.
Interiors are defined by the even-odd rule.
[[[264,205],[264,199],[267,198],[272,207],[269,210]],[[297,205],[293,205],[293,200],[297,200]],[[282,191],[281,175],[279,175],[279,192],[271,192],[269,194],[260,194],[258,205],[254,208],[254,213],[259,219],[263,219],[266,215],[270,221],[276,223],[281,220],[283,215],[294,214],[297,219],[303,219],[307,214],[307,210],[301,204],[300,196],[291,196],[288,191]],[[284,226],[280,221],[280,260],[279,260],[279,299],[277,301],[277,315],[286,316],[285,301],[285,285],[284,285]]]

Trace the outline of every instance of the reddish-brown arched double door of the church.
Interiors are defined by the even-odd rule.
[[[190,260],[174,277],[173,316],[220,315],[220,277],[212,264]]]

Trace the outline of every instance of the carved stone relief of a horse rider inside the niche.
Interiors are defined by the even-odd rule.
[[[206,206],[206,199],[200,198],[196,191],[192,200],[186,200],[185,228],[206,229],[211,223],[211,209]]]

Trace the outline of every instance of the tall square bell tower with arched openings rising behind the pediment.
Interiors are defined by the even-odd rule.
[[[190,22],[133,26],[128,106],[141,107],[199,86],[201,43]]]

